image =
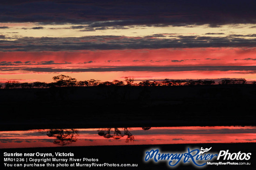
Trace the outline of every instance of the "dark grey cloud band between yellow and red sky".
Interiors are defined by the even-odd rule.
[[[3,37],[4,38],[4,37]],[[19,38],[1,40],[0,51],[74,51],[164,48],[255,47],[256,38],[178,36],[144,38],[123,36],[86,36],[81,38]]]

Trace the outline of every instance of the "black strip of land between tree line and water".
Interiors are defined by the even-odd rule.
[[[256,126],[256,86],[0,89],[0,130]]]

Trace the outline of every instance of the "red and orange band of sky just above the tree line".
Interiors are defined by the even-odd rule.
[[[254,66],[255,49],[241,48],[188,48],[157,50],[83,50],[83,51],[42,51],[42,52],[0,52],[2,82],[9,79],[23,81],[51,82],[52,76],[67,74],[78,80],[98,79],[102,81],[122,80],[125,76],[135,79],[217,79],[246,78],[255,80],[250,70],[222,70],[222,66]],[[9,63],[7,63],[9,62]],[[11,63],[10,63],[11,62]],[[97,71],[88,74],[88,68],[109,68],[123,66],[206,66],[204,70],[165,71],[150,69],[133,71]],[[207,71],[207,66],[220,69]],[[34,69],[36,68],[36,69]],[[53,72],[47,68],[60,69]],[[81,71],[79,70],[81,69]],[[63,71],[62,71],[63,70]],[[74,71],[73,71],[74,70]],[[250,71],[250,72],[249,72]],[[102,74],[103,73],[103,74]],[[106,74],[108,74],[106,78]],[[40,76],[39,76],[40,75]],[[42,76],[44,75],[44,76]]]

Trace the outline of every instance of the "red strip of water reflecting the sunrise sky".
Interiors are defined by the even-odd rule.
[[[0,132],[0,148],[256,142],[255,126],[41,129]]]

